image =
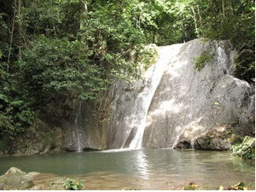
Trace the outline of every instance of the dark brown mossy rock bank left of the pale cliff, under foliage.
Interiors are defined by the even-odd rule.
[[[106,133],[98,123],[96,108],[91,103],[83,102],[79,113],[78,109],[75,108],[70,119],[56,118],[50,114],[41,115],[25,134],[17,138],[15,150],[8,150],[9,145],[5,144],[4,150],[0,148],[0,155],[76,152],[79,149],[78,142],[80,151],[105,149]],[[76,129],[79,132],[74,134]]]

